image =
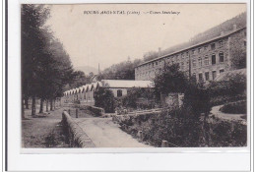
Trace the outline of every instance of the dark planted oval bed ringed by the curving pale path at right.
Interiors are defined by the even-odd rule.
[[[231,114],[246,114],[246,101],[239,101],[234,103],[226,103],[220,108],[220,111]]]

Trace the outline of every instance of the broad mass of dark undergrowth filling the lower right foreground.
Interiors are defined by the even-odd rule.
[[[142,140],[155,146],[160,146],[162,141],[177,147],[245,146],[247,143],[246,125],[212,117],[196,119],[183,108],[129,116],[119,120],[119,124],[129,126],[129,130],[124,130],[135,136],[142,131]]]

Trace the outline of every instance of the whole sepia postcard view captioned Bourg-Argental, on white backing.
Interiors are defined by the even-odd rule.
[[[20,8],[22,148],[248,146],[246,3]]]

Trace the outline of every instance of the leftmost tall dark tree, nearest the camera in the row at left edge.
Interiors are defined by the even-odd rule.
[[[22,98],[28,102],[28,98],[32,96],[32,116],[35,113],[35,96],[38,88],[37,59],[41,57],[44,46],[41,27],[48,16],[49,9],[42,5],[22,6]],[[25,117],[24,112],[22,117]]]

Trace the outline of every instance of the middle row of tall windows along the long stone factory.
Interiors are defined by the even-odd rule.
[[[172,63],[174,63],[172,61]],[[219,53],[219,63],[224,63],[224,52],[220,52]],[[189,66],[189,60],[187,60],[186,62],[181,62],[181,63],[178,63],[180,65],[180,70],[185,70],[188,68]],[[212,54],[211,56],[211,65],[216,65],[217,64],[217,56],[216,54]],[[210,65],[210,59],[209,59],[209,56],[206,55],[204,58],[202,57],[198,57],[197,59],[193,58],[192,59],[192,68],[197,68],[197,67],[203,67],[203,66],[209,66]],[[186,68],[187,67],[187,68]],[[159,68],[160,70],[161,68]],[[143,72],[141,74],[138,74],[139,76],[140,75],[150,75],[151,74],[151,71],[149,72]]]

